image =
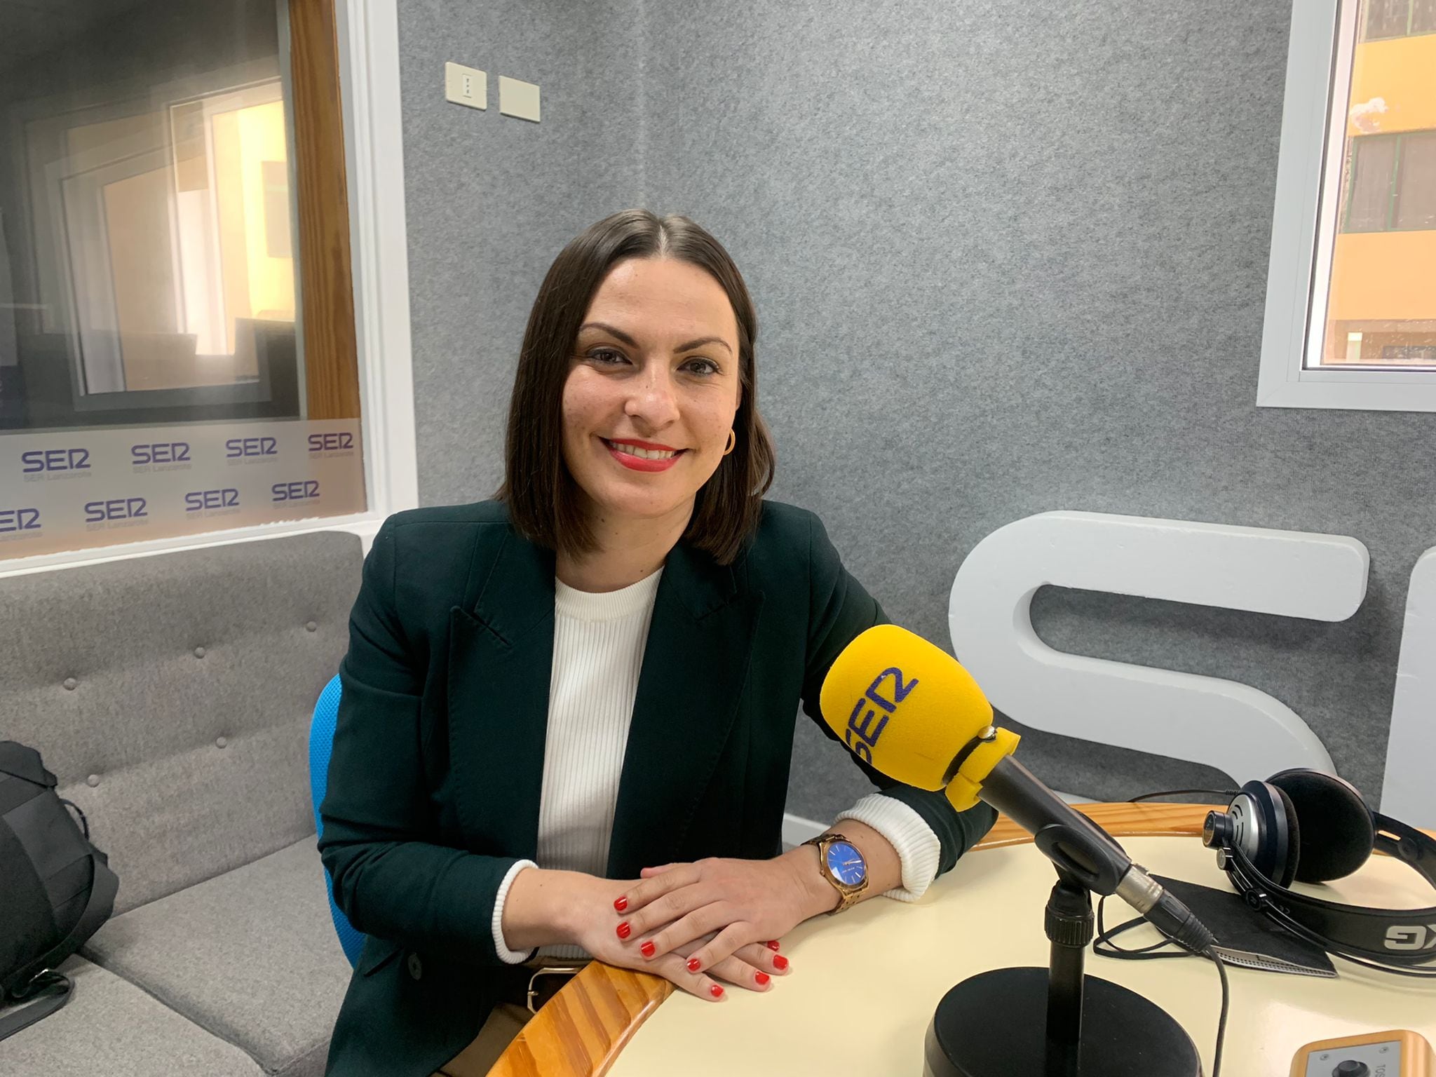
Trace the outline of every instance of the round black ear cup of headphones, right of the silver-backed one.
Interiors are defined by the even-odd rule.
[[[1304,883],[1341,879],[1371,856],[1376,820],[1350,781],[1298,768],[1274,774],[1269,784],[1287,794],[1292,817],[1301,820],[1301,841],[1292,841],[1297,879]]]

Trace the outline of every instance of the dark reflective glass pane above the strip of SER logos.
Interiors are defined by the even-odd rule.
[[[300,418],[280,17],[159,0],[7,43],[20,425]]]

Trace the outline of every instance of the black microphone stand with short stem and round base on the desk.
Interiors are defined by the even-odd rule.
[[[979,972],[942,997],[923,1077],[1200,1077],[1196,1045],[1165,1010],[1086,975],[1091,890],[1058,869],[1043,923],[1045,969]]]

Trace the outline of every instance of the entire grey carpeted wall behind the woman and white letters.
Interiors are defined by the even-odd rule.
[[[1351,534],[1340,625],[1055,589],[1078,653],[1229,676],[1380,794],[1406,582],[1436,544],[1430,415],[1254,405],[1291,0],[505,0],[401,6],[419,478],[484,497],[553,256],[632,204],[685,213],[752,289],[774,497],[943,645],[984,536],[1053,508]],[[442,62],[491,108],[442,101]],[[543,86],[503,118],[497,75]],[[1223,783],[1031,734],[1071,793]],[[862,791],[800,721],[790,810]]]

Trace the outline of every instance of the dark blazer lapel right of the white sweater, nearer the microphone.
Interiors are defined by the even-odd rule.
[[[619,780],[607,875],[636,877],[681,847],[738,714],[763,595],[679,543],[653,600]]]

